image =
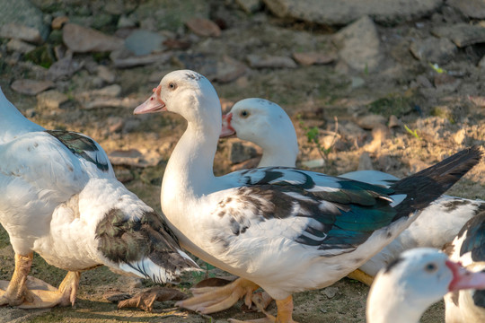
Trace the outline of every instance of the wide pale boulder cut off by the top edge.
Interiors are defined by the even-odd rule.
[[[364,15],[398,23],[433,13],[443,0],[263,0],[278,17],[327,25],[345,25]]]

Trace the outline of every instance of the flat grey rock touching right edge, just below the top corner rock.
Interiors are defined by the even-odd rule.
[[[438,26],[433,28],[431,33],[437,37],[453,40],[459,48],[485,42],[485,28],[468,23]]]

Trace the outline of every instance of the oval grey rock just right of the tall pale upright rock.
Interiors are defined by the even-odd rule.
[[[451,61],[458,51],[454,43],[449,39],[416,39],[410,44],[412,55],[419,60],[430,63],[445,64]]]

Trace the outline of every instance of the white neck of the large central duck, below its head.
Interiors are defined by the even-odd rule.
[[[217,138],[217,129],[188,123],[163,175],[163,212],[177,201],[191,201],[208,193],[216,179],[213,164]]]

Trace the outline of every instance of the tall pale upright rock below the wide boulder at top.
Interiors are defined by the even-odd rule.
[[[382,59],[375,23],[364,16],[334,35],[339,57],[354,70],[375,72]],[[356,50],[358,48],[358,50]]]

